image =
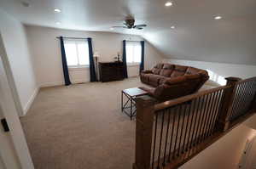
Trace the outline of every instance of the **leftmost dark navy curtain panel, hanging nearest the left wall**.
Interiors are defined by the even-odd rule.
[[[68,73],[68,67],[67,67],[67,58],[66,58],[66,52],[63,42],[63,37],[60,37],[61,41],[61,59],[62,59],[62,68],[63,68],[63,75],[65,80],[65,85],[68,86],[71,84],[69,79],[69,73]]]

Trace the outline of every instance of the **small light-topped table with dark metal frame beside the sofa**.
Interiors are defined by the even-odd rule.
[[[127,88],[125,90],[122,90],[122,100],[121,100],[122,112],[128,115],[131,120],[133,116],[136,116],[136,112],[137,112],[136,105],[135,105],[135,98],[138,96],[146,95],[146,94],[148,94],[148,92],[138,87]],[[124,95],[126,98],[125,104],[124,104]]]

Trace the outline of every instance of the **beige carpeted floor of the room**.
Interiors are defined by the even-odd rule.
[[[135,121],[121,113],[121,90],[142,86],[129,78],[42,88],[21,117],[35,168],[131,169]]]

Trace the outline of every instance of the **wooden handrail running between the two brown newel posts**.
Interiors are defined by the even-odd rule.
[[[211,88],[209,90],[201,91],[199,93],[194,93],[194,94],[190,94],[190,95],[187,95],[187,96],[184,96],[184,97],[181,97],[181,98],[168,100],[168,101],[160,103],[160,104],[155,104],[154,105],[154,110],[155,111],[164,110],[164,109],[172,107],[174,105],[183,104],[184,102],[188,102],[191,99],[196,99],[196,98],[199,98],[201,96],[207,95],[209,93],[218,92],[220,90],[224,90],[224,89],[230,88],[230,87],[231,86],[223,86],[223,87]]]

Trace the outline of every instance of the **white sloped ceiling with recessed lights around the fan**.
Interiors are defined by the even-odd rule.
[[[29,3],[29,7],[21,2]],[[166,58],[256,65],[255,0],[0,0],[0,8],[27,25],[84,31],[111,31],[133,14]],[[61,8],[61,13],[54,13]],[[223,20],[214,20],[221,15]],[[55,22],[61,22],[56,25]],[[176,29],[171,29],[175,25]]]

